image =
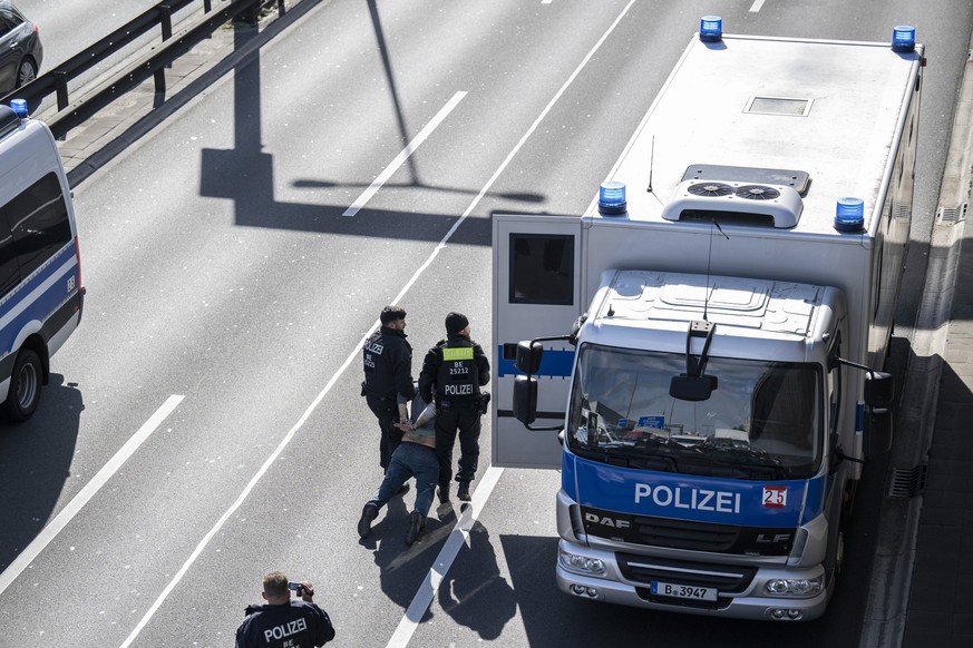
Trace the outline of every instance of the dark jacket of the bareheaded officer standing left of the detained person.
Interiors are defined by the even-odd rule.
[[[396,394],[410,401],[415,397],[412,346],[403,332],[381,326],[366,341],[362,360],[368,395],[390,399],[392,404]]]

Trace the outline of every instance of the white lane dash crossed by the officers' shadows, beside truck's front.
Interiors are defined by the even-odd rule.
[[[409,640],[412,638],[412,634],[422,620],[422,615],[426,613],[426,609],[432,602],[436,592],[439,591],[439,585],[442,582],[442,579],[446,578],[446,573],[453,566],[453,561],[456,560],[460,547],[463,547],[464,543],[469,544],[469,530],[473,529],[474,522],[476,522],[477,517],[489,499],[494,487],[497,485],[497,481],[499,481],[503,473],[503,468],[492,465],[487,469],[476,489],[476,492],[473,494],[473,501],[459,514],[459,520],[449,533],[449,538],[446,539],[442,549],[439,550],[439,556],[436,557],[436,561],[429,569],[429,573],[426,575],[426,579],[419,587],[419,591],[417,591],[416,596],[412,598],[412,602],[409,603],[409,607],[406,610],[406,616],[402,617],[401,621],[399,621],[399,627],[396,628],[396,631],[392,635],[392,638],[389,639],[386,648],[405,648],[408,646]]]

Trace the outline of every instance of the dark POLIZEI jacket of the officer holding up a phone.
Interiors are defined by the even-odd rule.
[[[334,638],[328,612],[303,600],[250,606],[236,630],[236,648],[318,648]]]

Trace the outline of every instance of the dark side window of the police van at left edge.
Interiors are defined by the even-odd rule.
[[[53,173],[28,187],[3,209],[13,235],[21,277],[27,277],[71,240],[68,207]]]

